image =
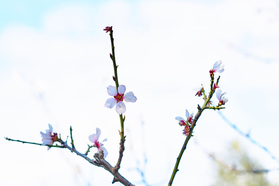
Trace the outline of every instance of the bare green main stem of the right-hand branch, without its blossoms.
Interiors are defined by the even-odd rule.
[[[183,155],[183,153],[184,153],[184,151],[186,149],[188,141],[192,137],[192,133],[193,133],[194,127],[196,126],[196,122],[198,121],[198,118],[201,116],[201,113],[203,112],[203,110],[206,109],[207,104],[209,103],[210,99],[212,98],[212,95],[214,93],[214,91],[212,91],[212,85],[213,85],[213,82],[214,82],[214,76],[213,75],[211,76],[211,80],[210,81],[211,81],[211,83],[210,83],[210,93],[208,95],[208,98],[205,99],[203,106],[200,107],[198,105],[198,113],[195,115],[195,117],[194,117],[194,119],[192,121],[192,125],[191,125],[191,129],[190,129],[189,135],[186,137],[185,142],[184,142],[184,144],[183,144],[183,146],[182,146],[182,148],[180,150],[180,153],[179,153],[179,155],[178,155],[178,157],[176,159],[176,163],[175,163],[175,166],[174,166],[174,171],[171,174],[171,179],[169,180],[168,186],[172,185],[172,183],[174,181],[174,177],[175,177],[176,173],[178,172],[178,165],[179,165],[180,160],[182,158],[182,155]]]

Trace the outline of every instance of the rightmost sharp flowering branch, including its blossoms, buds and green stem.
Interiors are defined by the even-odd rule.
[[[210,99],[212,98],[212,95],[215,92],[215,89],[219,88],[218,83],[219,83],[220,76],[218,77],[218,79],[217,79],[216,83],[214,84],[214,86],[213,86],[213,83],[214,83],[214,72],[223,72],[224,71],[224,69],[223,69],[224,65],[221,65],[221,63],[222,63],[221,61],[215,62],[215,64],[213,65],[213,69],[211,69],[209,71],[210,72],[210,81],[211,81],[211,83],[210,83],[210,92],[209,92],[208,97],[206,98],[206,96],[205,96],[203,86],[202,86],[201,90],[198,91],[197,94],[196,94],[198,96],[201,96],[201,94],[204,95],[204,98],[203,98],[204,99],[204,104],[203,104],[202,107],[200,105],[198,105],[198,113],[195,115],[193,121],[192,121],[192,115],[189,116],[189,114],[187,114],[188,113],[187,110],[186,110],[186,116],[187,116],[187,122],[186,123],[183,120],[181,121],[180,117],[176,117],[177,120],[180,120],[179,124],[181,126],[185,126],[185,129],[184,129],[185,132],[183,132],[183,134],[187,135],[187,137],[186,137],[185,142],[184,142],[184,144],[182,146],[182,149],[180,150],[180,153],[179,153],[179,155],[178,155],[178,157],[176,159],[176,164],[174,166],[174,171],[171,174],[171,179],[169,180],[168,186],[171,186],[172,183],[173,183],[174,177],[175,177],[176,173],[178,172],[178,165],[180,163],[181,157],[182,157],[182,155],[183,155],[183,153],[184,153],[184,151],[186,149],[188,141],[193,136],[192,133],[193,133],[194,127],[196,126],[196,122],[198,121],[198,118],[201,116],[201,113],[203,112],[203,110],[205,110],[205,109],[214,109],[214,110],[215,109],[217,109],[217,110],[221,109],[221,107],[219,107],[221,105],[217,105],[216,107],[209,107],[208,106],[210,104]],[[223,96],[223,94],[221,94],[219,96],[219,101],[221,99],[223,99],[222,96]],[[226,99],[226,101],[223,101],[223,105],[227,101],[228,101],[227,99]],[[191,127],[189,127],[188,122],[191,124]],[[187,132],[186,132],[186,128],[189,128],[189,131],[187,130]]]

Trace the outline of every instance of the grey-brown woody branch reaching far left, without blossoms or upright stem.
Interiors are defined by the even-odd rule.
[[[77,155],[83,157],[85,160],[87,160],[89,163],[93,164],[93,165],[96,165],[98,167],[103,167],[105,170],[109,171],[113,176],[113,180],[112,180],[112,183],[115,183],[115,182],[120,182],[122,183],[123,185],[125,186],[135,186],[133,185],[132,183],[130,183],[126,178],[124,178],[121,174],[119,174],[118,171],[115,171],[115,168],[112,167],[105,159],[104,159],[104,151],[103,149],[100,149],[99,153],[95,153],[94,154],[94,158],[95,160],[92,160],[90,158],[87,157],[87,154],[89,152],[89,149],[92,147],[92,146],[88,146],[88,150],[83,154],[83,153],[80,153],[76,150],[76,148],[74,147],[74,140],[73,140],[73,137],[72,137],[72,128],[70,127],[70,133],[71,133],[71,145],[72,147],[70,147],[67,142],[64,142],[61,138],[58,138],[56,139],[57,142],[59,142],[61,145],[50,145],[50,144],[45,144],[45,146],[48,146],[48,147],[57,147],[57,148],[67,148],[69,149],[71,152],[74,152],[76,153]],[[34,145],[42,145],[40,143],[33,143],[33,142],[25,142],[25,141],[21,141],[21,140],[12,140],[8,137],[5,137],[6,140],[9,140],[9,141],[15,141],[15,142],[22,142],[22,143],[29,143],[29,144],[34,144]]]

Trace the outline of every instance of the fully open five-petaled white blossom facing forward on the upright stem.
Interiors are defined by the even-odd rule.
[[[113,96],[113,98],[107,99],[105,102],[105,107],[112,108],[116,104],[116,112],[117,114],[121,115],[126,111],[126,106],[123,102],[125,100],[126,102],[136,102],[137,98],[134,96],[133,92],[127,92],[124,95],[124,92],[126,91],[126,87],[124,85],[119,85],[118,92],[116,90],[116,87],[109,85],[107,87],[108,94],[110,96]]]

